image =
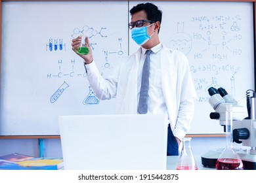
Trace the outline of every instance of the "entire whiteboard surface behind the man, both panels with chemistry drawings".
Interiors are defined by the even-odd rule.
[[[139,48],[127,24],[141,2],[3,2],[0,135],[59,135],[59,115],[114,114],[116,99],[93,95],[71,39],[87,34],[107,75]],[[152,3],[163,11],[160,41],[190,63],[198,97],[189,134],[223,133],[209,118],[207,88],[221,86],[246,106],[255,78],[253,3]]]

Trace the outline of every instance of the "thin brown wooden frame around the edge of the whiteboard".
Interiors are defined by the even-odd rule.
[[[2,2],[4,1],[12,1],[12,0],[0,0],[0,24],[2,25]],[[13,0],[13,1],[39,1],[39,0]],[[51,0],[44,0],[45,2],[51,1]],[[55,0],[55,1],[70,1],[70,0]],[[75,0],[75,1],[82,1],[82,0]],[[87,1],[87,0],[85,0]],[[93,1],[93,0],[91,0]],[[110,1],[110,0],[101,0],[101,1]],[[112,1],[118,1],[118,0],[112,0]],[[124,1],[124,0],[119,0]],[[130,0],[133,1],[133,0]],[[155,0],[158,1],[158,0]],[[162,1],[174,1],[175,0],[162,0]],[[177,1],[177,0],[176,0]],[[254,50],[254,71],[256,70],[256,64],[255,64],[255,58],[256,58],[256,41],[255,41],[255,35],[256,35],[256,0],[179,0],[179,1],[190,1],[190,2],[251,2],[253,3],[253,50]],[[1,27],[1,33],[2,33],[2,27]],[[0,41],[1,41],[1,35],[0,35]],[[1,44],[0,44],[0,75],[1,75]],[[254,72],[254,86],[256,87],[256,81],[255,81],[255,72]],[[255,90],[255,89],[254,89]],[[186,137],[225,137],[224,134],[190,134],[186,135]],[[0,135],[0,139],[60,139],[60,135]]]

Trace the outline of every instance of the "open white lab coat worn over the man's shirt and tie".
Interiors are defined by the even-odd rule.
[[[85,65],[87,78],[99,99],[116,97],[116,114],[137,114],[137,82],[141,48],[123,59],[114,71],[102,78],[95,61]],[[161,86],[173,135],[182,139],[194,115],[196,92],[188,59],[177,50],[161,50]]]

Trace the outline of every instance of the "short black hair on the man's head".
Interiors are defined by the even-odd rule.
[[[130,14],[133,16],[136,12],[139,12],[140,10],[144,10],[146,12],[148,20],[151,20],[153,22],[160,22],[161,24],[161,10],[158,9],[158,7],[152,3],[140,3],[136,5],[135,7],[131,8]]]

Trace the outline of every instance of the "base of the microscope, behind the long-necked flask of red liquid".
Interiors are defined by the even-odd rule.
[[[215,168],[217,159],[221,156],[224,149],[210,150],[201,156],[203,167]],[[256,170],[256,155],[238,152],[244,163],[245,170]]]

